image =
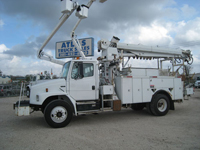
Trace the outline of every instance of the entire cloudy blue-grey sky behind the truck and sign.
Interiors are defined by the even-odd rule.
[[[77,0],[87,4],[87,0]],[[77,38],[94,38],[95,56],[100,39],[120,38],[120,42],[191,50],[191,72],[200,72],[199,0],[107,0],[93,3],[88,18],[76,29]],[[37,58],[37,50],[58,24],[60,0],[0,0],[0,70],[5,75],[37,74],[57,65]],[[78,18],[75,13],[50,40],[44,51],[55,57],[55,43],[70,40]],[[68,61],[69,59],[62,59]],[[136,65],[152,66],[150,61]]]

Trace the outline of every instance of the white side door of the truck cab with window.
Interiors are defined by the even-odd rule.
[[[95,64],[74,62],[70,77],[70,96],[75,100],[95,100],[98,85],[95,82]]]

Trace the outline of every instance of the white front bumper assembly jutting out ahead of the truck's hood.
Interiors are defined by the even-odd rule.
[[[30,103],[29,100],[18,101],[13,104],[13,109],[15,110],[15,114],[17,116],[28,116],[30,115]]]

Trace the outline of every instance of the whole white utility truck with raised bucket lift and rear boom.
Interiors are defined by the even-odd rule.
[[[184,99],[184,84],[178,70],[184,63],[192,63],[190,50],[119,43],[119,38],[113,37],[111,41],[98,42],[101,56],[97,60],[84,55],[75,29],[87,18],[94,1],[90,0],[88,5],[62,1],[63,17],[38,50],[39,58],[63,65],[61,78],[31,86],[30,100],[14,104],[18,116],[30,115],[31,110],[42,111],[46,122],[59,128],[66,126],[73,115],[120,111],[122,107],[134,110],[146,107],[149,113],[163,116],[174,110],[174,102]],[[81,58],[64,63],[46,54],[43,48],[74,10],[79,20],[71,38]],[[157,68],[127,67],[132,58],[157,60]],[[172,68],[163,69],[164,61],[171,62]]]

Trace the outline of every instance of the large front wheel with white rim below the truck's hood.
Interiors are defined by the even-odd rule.
[[[46,122],[53,128],[62,128],[67,126],[73,113],[71,106],[62,100],[54,100],[50,102],[44,110]]]

